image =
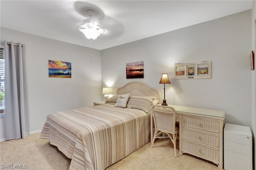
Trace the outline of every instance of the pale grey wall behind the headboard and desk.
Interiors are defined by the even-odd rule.
[[[154,28],[152,28],[154,29]],[[142,81],[163,93],[168,104],[226,111],[226,123],[251,127],[251,11],[192,25],[101,51],[102,86]],[[126,63],[144,61],[143,79],[126,79]],[[175,63],[212,62],[210,79],[174,79]]]

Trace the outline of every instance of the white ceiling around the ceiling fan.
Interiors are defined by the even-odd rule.
[[[0,0],[1,27],[91,47],[78,30],[95,10],[105,32],[92,48],[106,49],[252,8],[252,0]],[[11,40],[8,40],[11,41]]]

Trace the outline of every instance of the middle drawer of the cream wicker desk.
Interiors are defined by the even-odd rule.
[[[184,127],[182,127],[181,130],[182,138],[190,139],[192,141],[200,142],[214,147],[219,147],[220,138],[218,135],[193,131],[191,129],[186,129]]]

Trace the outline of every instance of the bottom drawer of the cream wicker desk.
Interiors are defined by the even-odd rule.
[[[182,152],[185,152],[185,153],[192,152],[194,154],[200,155],[201,158],[212,159],[216,161],[219,161],[219,156],[220,156],[218,149],[198,145],[196,143],[192,143],[183,139],[182,139]]]

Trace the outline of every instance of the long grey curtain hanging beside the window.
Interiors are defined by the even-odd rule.
[[[23,63],[21,43],[10,45],[4,41],[5,58],[5,140],[20,139],[29,135],[28,115],[24,112]]]

